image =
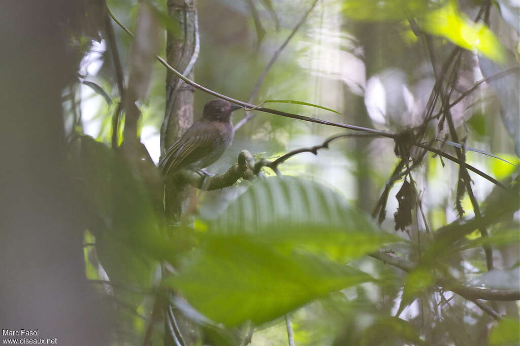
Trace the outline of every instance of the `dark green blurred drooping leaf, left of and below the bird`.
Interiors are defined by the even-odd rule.
[[[85,227],[95,236],[96,253],[110,281],[150,288],[158,261],[170,259],[145,185],[121,155],[87,136],[72,145],[71,157],[85,198]],[[114,287],[115,296],[134,308],[142,295]]]

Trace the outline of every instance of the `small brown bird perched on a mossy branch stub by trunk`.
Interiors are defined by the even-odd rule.
[[[202,117],[160,158],[163,175],[167,177],[179,169],[200,171],[217,161],[233,141],[231,112],[239,108],[225,100],[207,102]]]

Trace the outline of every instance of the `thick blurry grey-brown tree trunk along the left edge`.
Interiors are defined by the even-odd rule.
[[[96,36],[105,12],[102,2],[52,3],[4,2],[0,11],[0,322],[59,345],[107,345],[107,311],[85,280],[62,108],[81,59],[71,37]]]

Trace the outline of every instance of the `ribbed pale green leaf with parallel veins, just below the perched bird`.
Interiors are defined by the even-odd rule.
[[[211,231],[251,234],[285,253],[305,251],[340,262],[402,240],[381,230],[339,193],[288,176],[253,184],[213,222]]]

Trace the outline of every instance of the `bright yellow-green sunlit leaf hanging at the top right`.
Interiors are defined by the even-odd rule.
[[[475,23],[462,14],[454,1],[430,12],[425,18],[423,29],[446,37],[462,48],[477,49],[495,62],[504,62],[504,48],[498,38],[485,24]]]

